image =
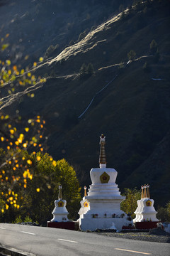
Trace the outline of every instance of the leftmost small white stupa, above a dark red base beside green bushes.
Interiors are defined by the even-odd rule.
[[[58,200],[55,200],[55,208],[52,211],[53,218],[51,222],[68,221],[67,215],[69,214],[66,208],[66,201],[62,199],[62,186],[59,186]]]

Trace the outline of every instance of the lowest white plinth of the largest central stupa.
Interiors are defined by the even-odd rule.
[[[96,229],[116,229],[121,231],[123,226],[133,225],[132,221],[126,218],[82,218],[79,219],[80,230],[95,231]]]

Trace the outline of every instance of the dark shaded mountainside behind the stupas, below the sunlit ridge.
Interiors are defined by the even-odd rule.
[[[77,168],[82,185],[91,181],[89,170],[98,166],[99,135],[106,134],[108,167],[118,171],[120,188],[150,183],[153,198],[159,198],[159,173],[169,198],[169,161],[166,138],[169,132],[169,14],[164,4],[155,4],[143,14],[120,20],[112,18],[76,45],[54,56],[35,73],[50,75],[35,98],[24,98],[16,107],[23,115],[42,114],[50,134],[50,154],[65,157]],[[154,63],[149,43],[155,39],[161,58]],[[127,53],[137,60],[127,63]],[[64,61],[63,61],[64,59]],[[62,60],[62,63],[60,63]],[[151,72],[142,66],[147,61]],[[86,80],[58,78],[79,72],[82,63],[93,63],[95,75]],[[115,75],[118,77],[99,93],[86,114],[92,97]],[[157,81],[152,78],[163,78]],[[160,154],[154,160],[155,154]],[[155,170],[157,169],[157,175]]]

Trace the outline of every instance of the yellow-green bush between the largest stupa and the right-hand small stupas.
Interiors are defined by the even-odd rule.
[[[125,200],[121,203],[120,208],[125,213],[130,214],[132,218],[135,218],[135,210],[137,208],[137,200],[140,200],[141,193],[137,190],[137,188],[125,188]]]

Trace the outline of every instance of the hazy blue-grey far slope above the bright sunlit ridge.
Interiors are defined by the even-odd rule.
[[[28,0],[22,4],[20,0],[1,1],[1,38],[9,33],[10,58],[28,65],[45,55],[49,46],[58,45],[55,54],[60,53],[70,41],[76,42],[81,32],[90,31],[92,26],[118,11],[122,2],[128,4],[132,0],[120,0],[120,3],[117,0],[104,3],[96,0]],[[26,55],[29,55],[27,61],[24,60]]]

